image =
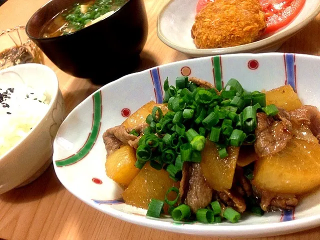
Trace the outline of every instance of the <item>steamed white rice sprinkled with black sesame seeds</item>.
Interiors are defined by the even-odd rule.
[[[0,85],[0,157],[41,120],[49,101],[44,90]]]

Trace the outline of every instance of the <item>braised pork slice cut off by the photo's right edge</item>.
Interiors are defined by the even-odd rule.
[[[303,105],[289,112],[291,120],[296,124],[306,124],[320,143],[320,112],[315,106]]]

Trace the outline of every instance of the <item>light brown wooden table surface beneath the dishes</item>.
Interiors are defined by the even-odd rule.
[[[0,6],[0,30],[24,25],[47,0],[8,0]],[[167,0],[145,0],[149,34],[137,70],[186,59],[163,44],[156,35],[156,17]],[[320,54],[320,15],[286,41],[279,51]],[[98,87],[59,70],[57,74],[67,112]],[[52,165],[27,186],[0,195],[0,238],[4,239],[229,239],[170,233],[134,225],[108,216],[69,193],[55,176]],[[289,235],[251,238],[259,240],[320,239],[320,227]]]

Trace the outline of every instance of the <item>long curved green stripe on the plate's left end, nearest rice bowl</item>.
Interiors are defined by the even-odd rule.
[[[101,123],[101,114],[102,114],[101,91],[94,93],[92,98],[93,98],[93,121],[92,121],[91,132],[89,133],[89,136],[86,142],[75,154],[65,159],[55,161],[56,166],[71,165],[81,160],[83,157],[85,157],[89,153],[89,151],[92,149],[97,139],[99,129],[100,129],[100,123]]]

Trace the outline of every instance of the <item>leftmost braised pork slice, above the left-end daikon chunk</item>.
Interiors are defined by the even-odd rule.
[[[127,145],[129,141],[134,141],[138,137],[129,134],[124,126],[118,125],[107,129],[103,133],[102,138],[106,149],[106,156],[109,156],[115,150],[119,149],[121,145]]]

